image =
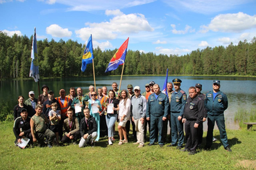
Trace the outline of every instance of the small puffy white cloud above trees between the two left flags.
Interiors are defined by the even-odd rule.
[[[68,28],[61,28],[57,24],[52,24],[51,26],[46,28],[46,33],[51,35],[52,37],[71,37],[72,32],[69,31]]]

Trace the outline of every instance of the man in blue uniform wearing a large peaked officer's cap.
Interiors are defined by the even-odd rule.
[[[182,115],[187,100],[187,94],[180,88],[180,79],[173,79],[175,91],[171,94],[171,144],[167,147],[175,146],[178,142],[177,149],[182,148],[184,142],[184,131],[182,124]]]

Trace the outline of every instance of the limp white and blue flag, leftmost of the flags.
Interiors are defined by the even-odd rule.
[[[29,72],[29,77],[33,77],[33,79],[35,79],[35,82],[38,82],[40,77],[37,58],[37,33],[35,31],[32,42],[31,59],[31,70]]]

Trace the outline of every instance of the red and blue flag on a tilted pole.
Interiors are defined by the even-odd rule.
[[[110,60],[110,64],[108,64],[108,68],[105,70],[105,73],[108,71],[112,71],[118,68],[118,66],[123,65],[126,60],[127,46],[128,46],[129,38],[124,41],[124,43],[120,46],[117,52],[114,54],[112,59]]]

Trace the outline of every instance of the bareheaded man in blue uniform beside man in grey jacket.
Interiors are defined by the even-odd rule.
[[[162,141],[162,122],[167,120],[169,101],[167,95],[161,93],[158,84],[153,86],[154,93],[149,95],[148,104],[146,106],[146,120],[151,121],[150,139],[148,146],[152,146],[155,142],[155,136],[158,128],[158,144],[160,147],[164,146]]]

